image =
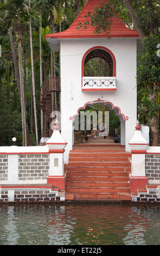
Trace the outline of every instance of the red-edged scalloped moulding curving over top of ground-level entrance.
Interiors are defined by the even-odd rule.
[[[69,117],[69,119],[70,119],[70,120],[74,120],[75,116],[76,116],[76,115],[79,115],[80,109],[85,109],[85,107],[86,107],[87,104],[93,105],[94,103],[104,103],[105,105],[106,105],[106,104],[110,104],[110,105],[112,106],[112,109],[114,109],[114,108],[117,108],[117,109],[118,109],[119,115],[121,115],[121,117],[123,117],[123,120],[124,120],[124,121],[129,120],[129,117],[127,117],[127,116],[125,116],[123,113],[121,113],[121,110],[120,110],[119,107],[114,106],[113,103],[110,102],[110,101],[105,101],[105,100],[100,100],[100,99],[94,100],[94,101],[88,101],[88,102],[86,102],[85,105],[82,106],[82,107],[79,107],[79,108],[78,108],[78,111],[76,112],[76,114],[74,114],[73,116]]]

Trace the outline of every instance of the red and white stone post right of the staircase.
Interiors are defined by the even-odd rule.
[[[132,153],[132,173],[130,176],[130,191],[145,189],[148,178],[145,175],[145,154],[149,143],[140,131],[139,121],[136,123],[136,130],[133,138],[129,142]]]

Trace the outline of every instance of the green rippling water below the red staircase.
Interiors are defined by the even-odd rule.
[[[1,205],[0,245],[160,245],[160,208]]]

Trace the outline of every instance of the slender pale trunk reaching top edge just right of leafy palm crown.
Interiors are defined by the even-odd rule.
[[[30,0],[28,0],[28,6],[30,8]],[[36,145],[39,145],[39,136],[38,136],[38,127],[37,127],[37,113],[36,113],[36,93],[35,93],[35,81],[34,81],[34,61],[33,61],[33,45],[32,45],[31,19],[29,19],[29,37],[30,37],[31,80],[32,80],[32,86],[33,86],[33,102],[34,102]]]

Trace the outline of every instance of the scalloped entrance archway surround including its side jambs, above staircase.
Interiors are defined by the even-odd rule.
[[[117,117],[119,117],[119,121],[120,121],[120,144],[125,145],[125,121],[129,120],[129,117],[127,117],[123,113],[121,113],[120,108],[118,106],[114,106],[112,102],[105,101],[105,100],[100,100],[100,99],[95,100],[95,101],[86,102],[84,106],[78,108],[78,111],[77,111],[76,114],[74,114],[73,116],[71,116],[69,118],[70,120],[73,120],[73,144],[74,144],[74,121],[75,121],[76,118],[78,118],[79,112],[83,109],[85,110],[86,107],[88,107],[88,106],[93,107],[94,105],[97,105],[97,104],[99,104],[101,107],[107,106],[108,111],[113,111],[117,115]]]

